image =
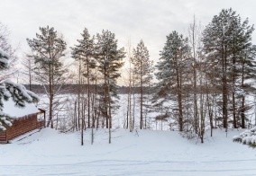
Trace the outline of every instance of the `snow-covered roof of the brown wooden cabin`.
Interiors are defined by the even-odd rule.
[[[23,108],[17,107],[14,101],[10,99],[9,101],[4,101],[3,112],[12,118],[20,118],[25,115],[40,112],[40,110],[38,110],[33,103],[25,103],[25,107]]]

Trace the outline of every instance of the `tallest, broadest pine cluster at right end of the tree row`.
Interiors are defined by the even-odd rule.
[[[220,83],[224,128],[228,127],[228,110],[232,110],[233,128],[237,128],[239,109],[235,90],[241,86],[238,75],[242,72],[242,53],[251,46],[253,30],[253,27],[248,25],[248,20],[241,22],[241,17],[236,12],[227,9],[215,15],[203,34],[207,62],[211,65],[211,72],[215,73],[212,79]],[[232,97],[231,108],[228,97]]]

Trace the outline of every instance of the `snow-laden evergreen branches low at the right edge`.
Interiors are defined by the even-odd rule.
[[[239,136],[233,136],[233,142],[256,147],[256,127],[243,131]]]

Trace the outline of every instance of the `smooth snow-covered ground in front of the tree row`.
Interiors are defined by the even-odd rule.
[[[256,175],[256,150],[232,142],[241,132],[215,129],[200,144],[176,131],[115,129],[109,145],[100,129],[90,145],[86,130],[81,146],[79,133],[43,128],[0,145],[0,175]]]

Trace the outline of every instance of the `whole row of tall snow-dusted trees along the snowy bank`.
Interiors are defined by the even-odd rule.
[[[21,58],[23,77],[28,80],[28,90],[37,92],[32,87],[40,84],[46,95],[48,127],[55,128],[59,111],[67,110],[63,105],[67,99],[59,97],[70,88],[67,92],[75,92],[76,98],[69,100],[69,131],[81,131],[83,145],[84,129],[92,130],[93,143],[94,128],[108,128],[111,143],[113,115],[121,106],[117,80],[125,58],[128,76],[123,87],[127,94],[127,104],[123,105],[127,107],[124,128],[135,129],[134,109],[140,107],[138,128],[149,128],[145,114],[155,111],[160,113],[155,120],[172,119],[184,136],[198,137],[203,143],[207,128],[251,125],[248,112],[254,105],[247,95],[255,94],[253,31],[249,20],[242,21],[232,9],[222,10],[206,27],[194,17],[187,36],[170,31],[160,50],[160,59],[153,65],[143,40],[135,47],[128,40],[127,46],[119,48],[113,32],[103,30],[90,35],[87,28],[77,45],[70,48],[74,62],[69,63],[63,35],[53,27],[40,27],[35,38],[27,39],[31,51]],[[1,80],[5,80],[17,72],[17,57],[2,24],[0,48],[9,54],[10,60],[9,69],[1,74]]]

